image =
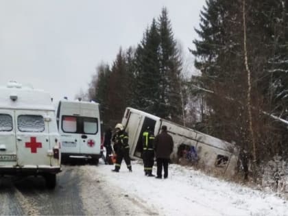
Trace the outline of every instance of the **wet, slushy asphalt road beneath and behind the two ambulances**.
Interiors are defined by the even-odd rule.
[[[85,173],[82,165],[62,166],[53,190],[42,177],[1,177],[0,215],[158,215],[108,187],[101,173],[96,176]]]

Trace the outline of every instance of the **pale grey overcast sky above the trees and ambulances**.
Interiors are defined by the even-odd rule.
[[[204,0],[0,0],[0,85],[14,80],[54,101],[86,91],[95,68],[119,47],[136,46],[167,7],[187,53],[197,37]]]

